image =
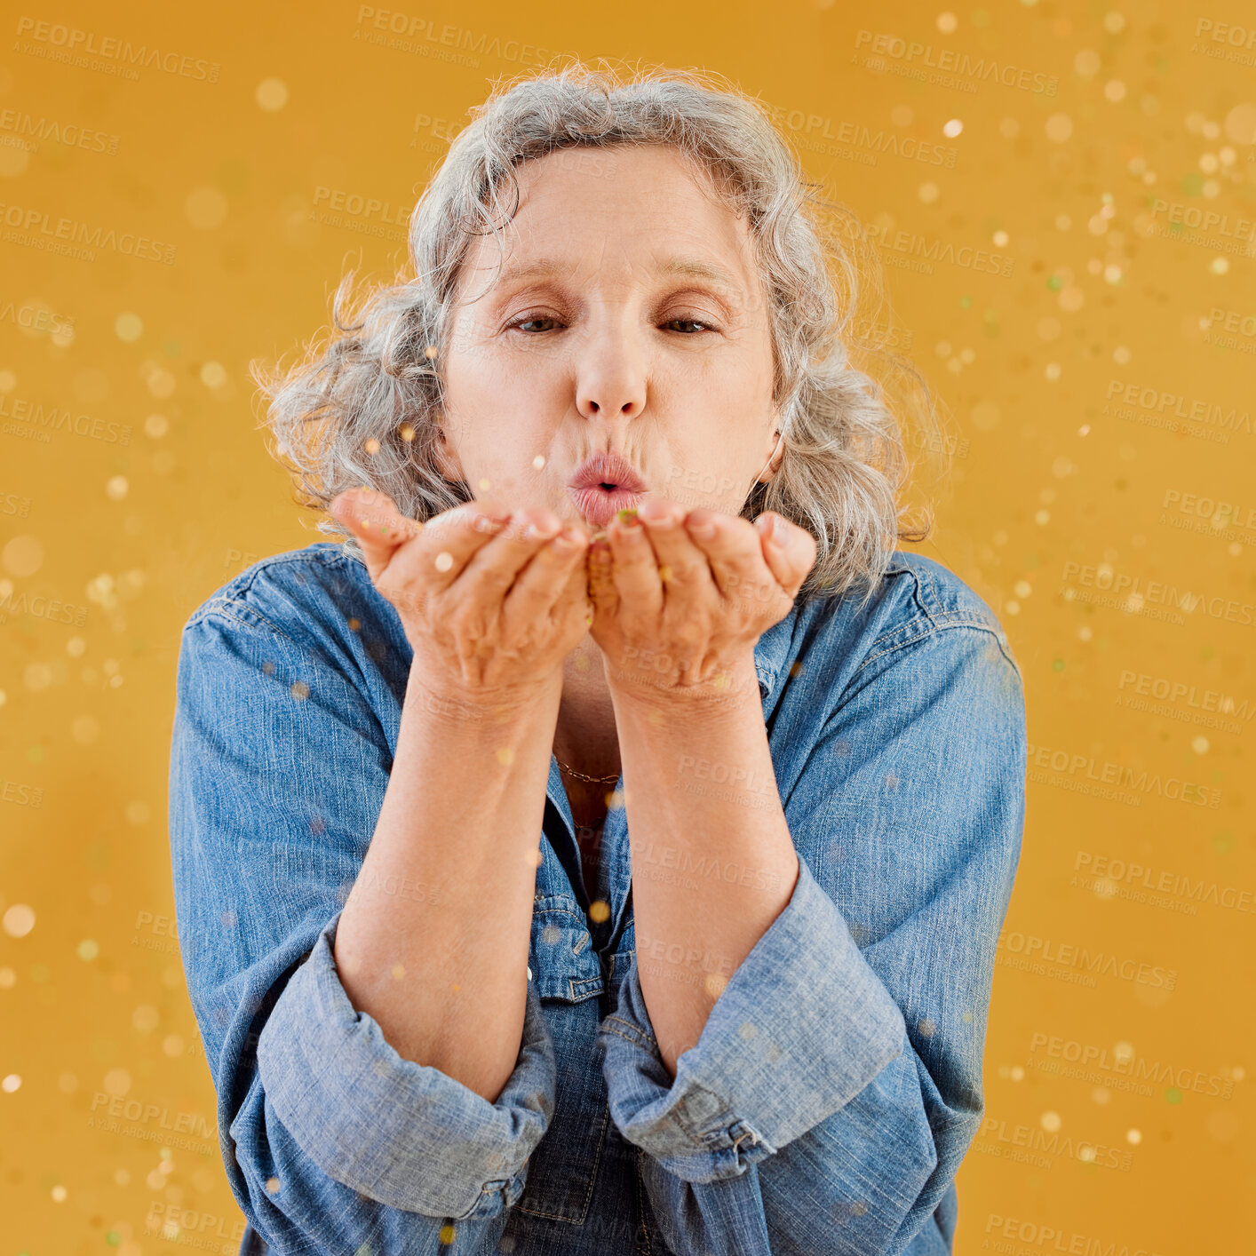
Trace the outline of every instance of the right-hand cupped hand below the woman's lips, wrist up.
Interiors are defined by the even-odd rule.
[[[784,543],[784,544],[782,544]],[[593,639],[612,692],[646,702],[740,697],[760,636],[789,614],[815,564],[805,529],[651,497],[589,551]]]

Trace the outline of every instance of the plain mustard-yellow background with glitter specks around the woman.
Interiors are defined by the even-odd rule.
[[[322,330],[347,264],[391,278],[465,111],[560,53],[716,70],[780,111],[951,416],[923,550],[1000,614],[1031,742],[957,1252],[1250,1250],[1256,14],[374,11],[401,18],[3,19],[0,1256],[236,1250],[166,806],[182,623],[322,539],[249,362]],[[67,63],[72,29],[158,59]],[[335,193],[362,212],[335,221]],[[62,220],[100,245],[39,247]]]

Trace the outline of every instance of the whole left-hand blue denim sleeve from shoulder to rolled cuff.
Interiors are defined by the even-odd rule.
[[[255,587],[183,628],[170,821],[188,993],[232,1193],[276,1256],[470,1256],[526,1186],[554,1045],[529,985],[489,1103],[402,1059],[340,983],[335,929],[392,769],[347,619]]]

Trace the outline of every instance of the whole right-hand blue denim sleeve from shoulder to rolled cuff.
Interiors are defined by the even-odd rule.
[[[794,893],[676,1078],[636,962],[602,1024],[610,1112],[676,1256],[951,1250],[1024,825],[1020,669],[996,628],[939,617],[835,688],[781,717],[814,718],[777,780]]]

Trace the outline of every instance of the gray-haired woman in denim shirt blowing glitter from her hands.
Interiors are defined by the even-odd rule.
[[[242,1251],[950,1251],[1021,677],[894,548],[796,158],[736,90],[571,67],[476,111],[411,247],[270,388],[344,544],[183,629]]]

